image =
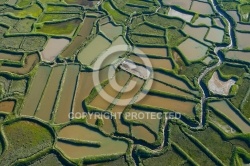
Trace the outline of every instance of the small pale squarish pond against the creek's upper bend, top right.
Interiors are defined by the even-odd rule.
[[[221,43],[223,40],[224,31],[218,28],[210,28],[206,39],[212,42]]]

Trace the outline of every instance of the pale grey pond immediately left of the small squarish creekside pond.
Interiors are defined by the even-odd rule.
[[[208,31],[208,28],[207,28],[207,27],[198,27],[198,28],[197,28],[197,27],[192,27],[192,26],[186,24],[185,27],[184,27],[184,29],[183,29],[183,31],[184,31],[186,34],[192,36],[193,38],[199,40],[200,42],[202,42],[202,43],[204,43],[204,44],[206,44],[206,45],[208,45],[208,46],[211,46],[211,45],[212,45],[212,43],[206,42],[206,41],[204,40],[204,38],[205,38],[205,36],[206,36],[206,33],[207,33],[207,31]]]

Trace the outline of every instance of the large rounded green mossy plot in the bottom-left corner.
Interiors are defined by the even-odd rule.
[[[52,147],[53,135],[38,123],[20,120],[3,127],[8,148],[0,157],[0,165],[11,165],[15,160],[28,157]]]

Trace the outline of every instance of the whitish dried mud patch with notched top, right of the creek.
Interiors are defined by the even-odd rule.
[[[229,79],[227,81],[222,81],[218,75],[218,72],[214,72],[211,79],[208,81],[208,88],[214,94],[228,95],[230,88],[235,84],[235,80]]]

